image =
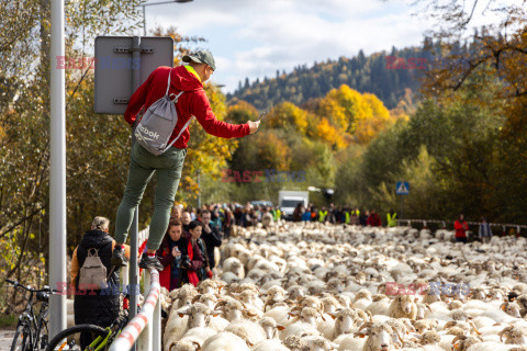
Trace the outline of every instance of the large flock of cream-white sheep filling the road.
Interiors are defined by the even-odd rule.
[[[249,231],[250,230],[250,231]],[[527,350],[527,240],[287,223],[164,293],[164,351]],[[217,253],[217,252],[216,252]]]

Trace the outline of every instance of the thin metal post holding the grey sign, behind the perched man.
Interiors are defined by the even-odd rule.
[[[141,45],[139,45],[139,37],[134,36],[133,42],[132,42],[132,61],[141,63]],[[137,65],[137,69],[133,69],[133,75],[132,75],[132,92],[135,92],[137,88],[141,86],[141,64]],[[134,66],[132,66],[134,67]],[[132,146],[135,143],[135,137],[134,133],[132,132]],[[133,294],[130,294],[130,319],[134,318],[135,315],[137,314],[137,304],[139,302],[139,281],[138,281],[138,268],[137,268],[137,251],[139,250],[139,245],[138,245],[138,238],[137,234],[139,231],[138,229],[138,223],[139,223],[139,206],[135,207],[135,214],[134,214],[134,222],[132,223],[132,230],[130,234],[130,248],[131,248],[131,254],[130,254],[130,286],[133,287]],[[132,351],[135,351],[136,346],[131,349]]]

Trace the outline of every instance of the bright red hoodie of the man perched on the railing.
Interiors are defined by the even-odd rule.
[[[124,120],[133,125],[137,114],[143,107],[145,111],[157,100],[165,95],[168,82],[168,72],[170,67],[161,66],[156,68],[148,79],[141,84],[130,99],[128,106],[124,113]],[[206,133],[222,138],[240,138],[249,135],[249,125],[246,124],[228,124],[217,121],[212,112],[211,104],[206,98],[203,84],[184,66],[178,66],[172,69],[170,75],[170,89],[168,93],[179,93],[186,91],[176,104],[178,111],[178,123],[173,128],[169,143],[179,134],[179,131],[194,115],[198,122],[203,126]],[[187,128],[179,139],[173,144],[175,147],[183,149],[190,139],[189,128]]]

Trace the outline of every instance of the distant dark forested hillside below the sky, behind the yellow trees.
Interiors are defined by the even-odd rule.
[[[427,42],[427,41],[425,41]],[[431,44],[431,43],[429,43]],[[438,52],[438,45],[407,47],[365,56],[362,50],[352,58],[315,63],[296,67],[292,72],[280,73],[264,81],[239,82],[238,89],[227,99],[236,98],[251,103],[257,109],[267,109],[281,102],[302,105],[310,99],[323,98],[332,89],[346,84],[359,92],[375,94],[388,109],[393,109],[411,89],[415,94],[421,88],[419,78],[433,61],[430,49]],[[461,50],[466,48],[462,47]]]

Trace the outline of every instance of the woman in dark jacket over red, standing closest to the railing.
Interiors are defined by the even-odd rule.
[[[171,219],[168,223],[167,234],[157,249],[157,257],[164,270],[159,272],[159,284],[169,292],[181,286],[181,251],[179,245],[183,226],[180,220]]]

